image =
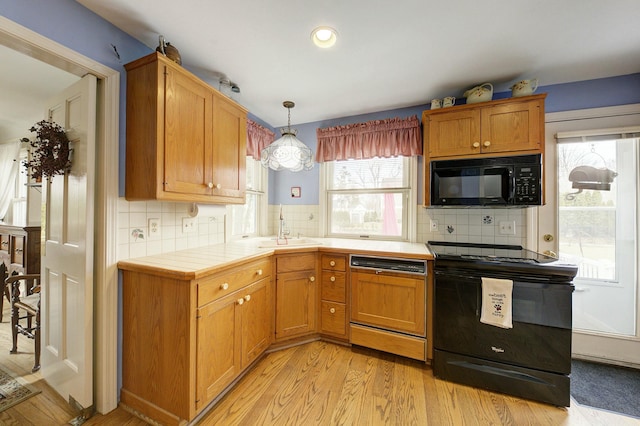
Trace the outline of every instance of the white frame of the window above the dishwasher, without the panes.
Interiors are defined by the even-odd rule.
[[[378,159],[375,157],[373,159]],[[403,172],[405,173],[404,179],[406,179],[407,187],[396,188],[372,188],[367,189],[350,189],[350,190],[332,190],[329,189],[329,179],[332,178],[331,170],[333,170],[333,164],[339,163],[338,161],[323,162],[320,163],[320,178],[319,178],[319,212],[320,212],[320,235],[325,238],[350,238],[350,239],[366,239],[366,240],[379,240],[379,241],[416,241],[416,218],[417,218],[417,199],[418,199],[418,157],[402,157],[405,161],[405,167]],[[361,160],[362,161],[362,160]],[[385,235],[360,235],[360,234],[338,234],[331,233],[331,202],[330,197],[335,193],[361,193],[361,194],[375,194],[375,193],[403,193],[405,194],[405,206],[403,208],[402,219],[402,231],[399,236],[385,236]]]

